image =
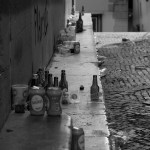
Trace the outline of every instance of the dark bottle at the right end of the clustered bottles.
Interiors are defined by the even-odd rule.
[[[65,70],[61,70],[61,80],[59,81],[59,87],[61,90],[68,91],[68,82],[66,80],[66,73]]]

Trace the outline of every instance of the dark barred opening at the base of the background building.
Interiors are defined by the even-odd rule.
[[[102,32],[102,14],[92,14],[93,31]]]

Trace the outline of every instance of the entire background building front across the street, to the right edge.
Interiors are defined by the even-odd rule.
[[[150,0],[76,0],[76,9],[92,14],[95,32],[150,30]]]

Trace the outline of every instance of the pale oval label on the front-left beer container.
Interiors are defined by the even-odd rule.
[[[34,111],[41,111],[43,109],[43,98],[40,95],[34,95],[31,99],[31,106]]]

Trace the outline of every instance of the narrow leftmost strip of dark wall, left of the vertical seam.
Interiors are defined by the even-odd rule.
[[[2,7],[3,5],[3,7]],[[7,0],[0,1],[0,128],[10,110],[10,24]]]

